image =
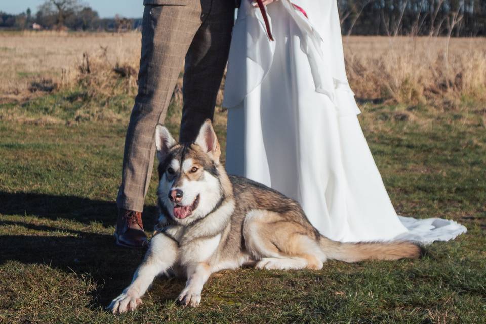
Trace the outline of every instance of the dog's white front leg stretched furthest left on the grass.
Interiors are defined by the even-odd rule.
[[[107,307],[113,313],[133,311],[142,303],[145,294],[155,277],[174,265],[177,259],[177,242],[164,234],[155,235],[150,241],[143,263],[133,275],[132,283]]]

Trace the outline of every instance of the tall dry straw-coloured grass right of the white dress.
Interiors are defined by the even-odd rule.
[[[430,37],[345,38],[346,68],[361,100],[407,105],[458,105],[484,100],[486,42]]]

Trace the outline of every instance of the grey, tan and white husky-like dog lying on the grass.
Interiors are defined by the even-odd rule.
[[[314,269],[328,259],[417,258],[411,242],[340,243],[315,229],[301,206],[249,179],[228,176],[210,120],[197,139],[181,145],[157,125],[159,229],[150,241],[132,283],[108,306],[113,313],[133,311],[156,276],[182,271],[187,277],[178,297],[198,306],[203,285],[223,269]]]

